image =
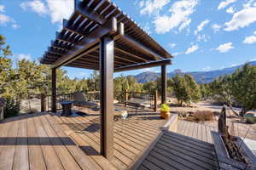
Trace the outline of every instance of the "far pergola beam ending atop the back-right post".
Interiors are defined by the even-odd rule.
[[[131,70],[144,69],[144,68],[160,66],[160,65],[172,65],[172,60],[171,59],[162,59],[162,60],[151,61],[148,63],[142,63],[142,64],[137,64],[137,65],[128,65],[128,66],[119,67],[119,68],[115,69],[114,71],[115,72],[131,71]]]

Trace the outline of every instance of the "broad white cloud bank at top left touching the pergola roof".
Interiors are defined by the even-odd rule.
[[[63,19],[68,19],[68,17],[73,13],[73,0],[33,0],[31,2],[20,3],[20,7],[26,10],[26,8],[31,8],[32,11],[38,13],[39,15],[49,14],[51,22],[53,24],[62,23]]]

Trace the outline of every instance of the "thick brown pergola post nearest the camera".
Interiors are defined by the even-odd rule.
[[[101,38],[101,154],[108,160],[113,158],[113,43],[111,37]]]

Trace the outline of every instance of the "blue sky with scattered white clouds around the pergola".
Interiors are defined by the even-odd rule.
[[[256,0],[113,0],[173,54],[168,71],[211,71],[256,60]],[[38,59],[73,0],[0,0],[0,32],[19,59]],[[63,67],[70,77],[89,70]],[[154,67],[122,74],[160,71]],[[119,73],[121,74],[121,73]],[[118,76],[116,74],[115,76]]]

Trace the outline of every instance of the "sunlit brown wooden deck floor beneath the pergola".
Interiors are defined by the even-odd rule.
[[[126,169],[160,133],[156,115],[114,122],[113,160],[99,155],[99,115],[16,116],[0,123],[0,169]]]

